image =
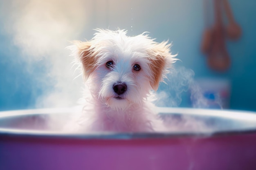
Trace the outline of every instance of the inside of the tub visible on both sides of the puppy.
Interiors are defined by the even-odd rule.
[[[256,131],[254,112],[191,108],[158,108],[158,112],[172,135]],[[73,115],[74,108],[0,112],[0,133],[63,134]]]

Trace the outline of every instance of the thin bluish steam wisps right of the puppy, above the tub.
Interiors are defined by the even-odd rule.
[[[194,79],[195,73],[184,66],[175,66],[167,75],[164,83],[160,84],[157,92],[157,106],[177,107],[182,102],[184,93],[189,93],[195,108],[207,108],[207,99]]]

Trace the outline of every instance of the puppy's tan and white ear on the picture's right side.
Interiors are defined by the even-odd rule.
[[[154,91],[157,91],[159,82],[163,81],[163,78],[168,73],[168,68],[177,60],[174,58],[176,55],[172,55],[170,52],[171,44],[167,43],[157,43],[149,52],[149,67],[152,73],[150,85]]]

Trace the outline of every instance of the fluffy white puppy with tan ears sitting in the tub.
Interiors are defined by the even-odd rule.
[[[155,42],[142,33],[97,29],[92,40],[69,46],[82,67],[88,93],[82,131],[152,132],[163,130],[152,103],[159,82],[177,60],[168,42]]]

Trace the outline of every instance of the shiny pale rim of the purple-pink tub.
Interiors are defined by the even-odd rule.
[[[70,113],[74,107],[69,108],[36,108],[24,110],[0,111],[0,119],[4,117],[40,114],[61,114]],[[186,115],[207,115],[214,117],[225,117],[229,119],[243,119],[256,123],[256,112],[245,110],[217,110],[202,108],[170,108],[158,107],[159,113],[182,113]],[[243,114],[242,114],[243,113]],[[211,132],[92,132],[92,133],[67,133],[60,131],[47,130],[25,130],[10,129],[0,127],[0,137],[36,137],[36,138],[65,138],[65,139],[165,139],[165,138],[184,138],[184,137],[219,137],[227,135],[245,135],[256,133],[256,124],[253,129],[245,130],[222,130]]]

